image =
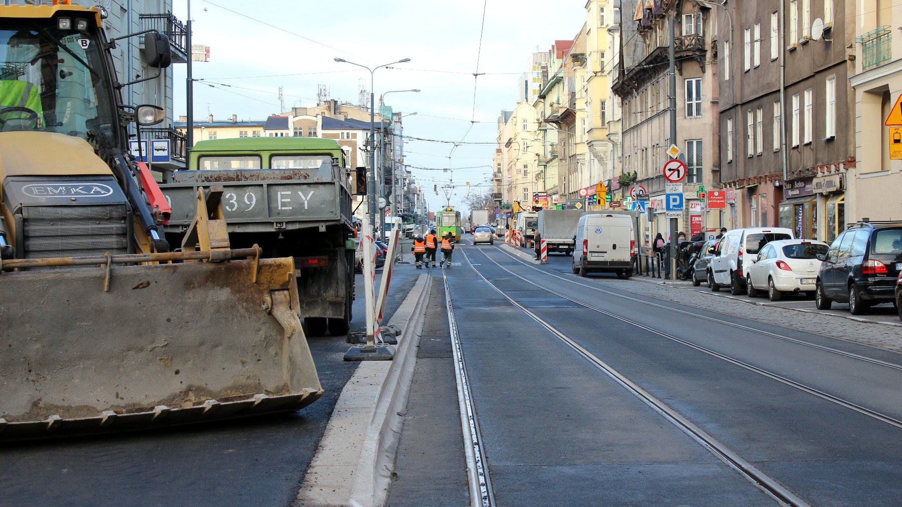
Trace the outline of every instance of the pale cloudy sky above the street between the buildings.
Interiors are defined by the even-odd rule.
[[[173,3],[174,14],[187,20],[187,0]],[[336,57],[371,68],[410,58],[376,70],[374,88],[377,101],[386,91],[419,88],[389,94],[385,104],[396,113],[417,113],[403,119],[405,135],[451,142],[408,140],[404,146],[405,163],[439,170],[411,169],[433,211],[446,205],[446,185],[454,186],[451,205],[459,209],[465,208],[467,181],[469,191],[491,191],[498,116],[516,105],[518,78],[529,70],[531,53],[573,39],[585,22],[584,0],[553,6],[537,0],[328,5],[191,0],[193,43],[210,46],[210,61],[193,68],[201,79],[194,86],[195,119],[278,114],[279,87],[286,109],[315,104],[318,85],[329,87],[330,98],[356,104],[361,86],[370,88],[370,73]],[[186,112],[186,67],[174,66],[176,116]],[[474,72],[482,75],[474,78]],[[453,144],[460,142],[483,144]],[[458,169],[440,171],[445,168]]]

